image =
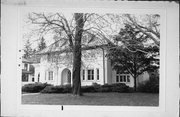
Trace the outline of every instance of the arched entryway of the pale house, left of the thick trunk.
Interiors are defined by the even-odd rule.
[[[71,71],[67,68],[65,68],[62,71],[61,74],[61,84],[62,85],[67,85],[67,84],[71,84]]]

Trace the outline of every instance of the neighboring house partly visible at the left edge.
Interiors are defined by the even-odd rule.
[[[30,60],[22,59],[22,85],[34,83],[34,71]]]

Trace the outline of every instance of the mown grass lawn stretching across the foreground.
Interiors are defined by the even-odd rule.
[[[23,94],[22,104],[158,106],[159,94],[84,93],[81,97],[72,94]]]

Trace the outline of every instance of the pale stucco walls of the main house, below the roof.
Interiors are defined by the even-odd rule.
[[[92,53],[88,55],[87,53]],[[93,83],[97,84],[112,84],[120,83],[123,78],[126,85],[133,87],[134,79],[129,74],[120,74],[117,75],[116,71],[112,69],[110,60],[105,57],[105,49],[96,49],[96,50],[85,50],[82,52],[82,66],[81,66],[81,85],[87,86],[92,85]],[[87,55],[86,55],[87,54]],[[65,54],[62,54],[62,56]],[[72,59],[72,58],[70,58]],[[72,85],[72,64],[71,61],[68,61],[69,64],[60,62],[53,62],[48,59],[48,55],[44,54],[41,57],[40,63],[35,64],[35,82],[49,83],[53,85]],[[68,63],[67,62],[67,63]],[[88,72],[93,71],[93,79],[88,79]],[[50,73],[51,72],[51,73]],[[52,79],[50,78],[52,77]],[[117,79],[118,77],[118,79]],[[145,77],[145,79],[144,79]],[[129,80],[128,80],[129,79]],[[143,82],[148,80],[148,73],[143,74],[138,77],[137,82]]]

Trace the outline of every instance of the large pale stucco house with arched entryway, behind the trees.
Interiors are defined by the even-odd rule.
[[[81,85],[125,83],[133,87],[134,79],[130,74],[118,74],[112,69],[110,61],[105,57],[107,45],[90,45],[82,47]],[[53,85],[72,85],[72,52],[68,46],[55,43],[36,53],[41,55],[35,67],[35,82]],[[149,79],[144,72],[137,78],[137,84]]]

